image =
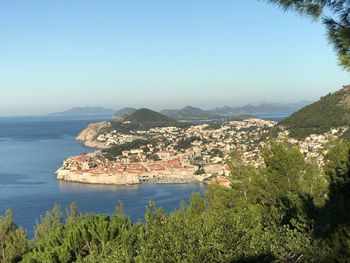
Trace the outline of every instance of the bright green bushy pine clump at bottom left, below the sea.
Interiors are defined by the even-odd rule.
[[[132,241],[128,231],[131,226],[131,221],[121,210],[112,216],[78,216],[74,222],[37,238],[24,262],[93,262],[93,259],[105,258],[112,252],[112,241],[113,245],[123,245],[130,253],[127,245]]]

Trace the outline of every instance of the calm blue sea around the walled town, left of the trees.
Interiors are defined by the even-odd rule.
[[[104,118],[105,119],[105,118]],[[133,220],[143,219],[152,199],[172,211],[202,184],[103,186],[57,181],[54,172],[72,155],[91,151],[74,139],[88,123],[101,119],[0,118],[0,214],[11,208],[30,237],[36,220],[55,203],[77,202],[81,213],[112,213],[119,201]]]

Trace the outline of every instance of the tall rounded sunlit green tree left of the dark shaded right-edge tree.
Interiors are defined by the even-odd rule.
[[[308,209],[324,203],[327,182],[317,165],[304,159],[298,146],[272,141],[263,149],[263,157],[266,167],[261,200],[265,206],[277,209],[277,220],[280,218],[283,224],[303,221]]]

